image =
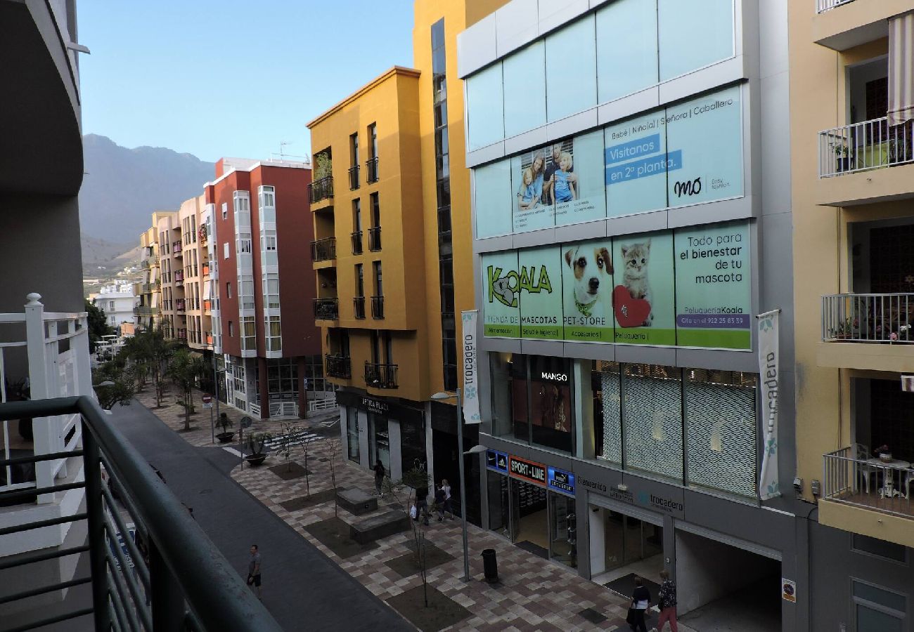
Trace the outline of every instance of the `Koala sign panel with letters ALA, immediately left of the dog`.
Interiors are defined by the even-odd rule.
[[[527,248],[517,256],[520,275],[520,335],[562,339],[562,272],[560,247]]]

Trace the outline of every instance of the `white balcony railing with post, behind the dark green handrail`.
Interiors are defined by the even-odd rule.
[[[44,306],[38,302],[40,298],[38,294],[29,294],[23,312],[0,313],[0,331],[3,331],[2,340],[5,341],[0,342],[2,403],[15,398],[36,400],[92,395],[86,313],[44,311]],[[15,393],[10,389],[14,384],[17,386]],[[22,420],[19,424],[27,425],[23,432],[9,421],[0,423],[5,459],[17,456],[18,451],[29,451],[36,456],[71,452],[80,445],[82,437],[80,416],[76,413],[49,417],[47,422]],[[21,436],[27,436],[29,430],[31,441]],[[50,487],[54,479],[67,476],[66,463],[64,458],[38,461],[34,477],[30,472],[7,465],[0,475],[0,492]],[[53,494],[38,497],[39,503],[53,500]]]

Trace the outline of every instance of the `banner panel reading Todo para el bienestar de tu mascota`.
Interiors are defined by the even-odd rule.
[[[749,222],[676,230],[676,343],[750,349]]]

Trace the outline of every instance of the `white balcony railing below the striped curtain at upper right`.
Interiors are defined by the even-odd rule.
[[[914,123],[874,119],[819,132],[819,177],[854,174],[914,161]]]

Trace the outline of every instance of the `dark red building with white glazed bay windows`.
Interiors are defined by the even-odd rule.
[[[251,416],[304,416],[323,394],[310,183],[307,163],[223,158],[205,186],[219,397]]]

